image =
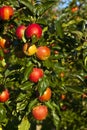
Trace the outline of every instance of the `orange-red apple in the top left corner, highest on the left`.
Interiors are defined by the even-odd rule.
[[[11,6],[2,6],[0,8],[0,18],[2,20],[9,20],[13,16],[14,10]]]

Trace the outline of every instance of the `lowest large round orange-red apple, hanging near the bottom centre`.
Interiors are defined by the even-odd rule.
[[[32,109],[32,115],[36,120],[44,120],[48,115],[48,109],[45,105],[38,105]]]

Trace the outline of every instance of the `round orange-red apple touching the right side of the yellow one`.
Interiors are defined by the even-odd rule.
[[[40,46],[37,48],[36,56],[40,60],[47,60],[50,53],[50,49],[47,46]]]

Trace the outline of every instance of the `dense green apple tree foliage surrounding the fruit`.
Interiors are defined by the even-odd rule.
[[[42,130],[87,129],[87,2],[73,0],[64,9],[57,9],[57,3],[56,0],[0,1],[0,7],[11,5],[14,8],[10,20],[0,19],[0,37],[10,44],[0,48],[0,92],[3,89],[10,92],[9,100],[0,102],[3,130],[32,130],[37,125],[42,125]],[[78,10],[72,12],[77,6]],[[16,28],[31,23],[42,27],[42,37],[26,38],[24,35],[18,39]],[[41,61],[36,54],[26,56],[23,53],[25,43],[48,46],[50,57]],[[44,71],[44,77],[37,83],[29,81],[33,67]],[[47,87],[51,88],[52,97],[40,102],[38,94],[42,95]],[[62,94],[66,95],[64,100]],[[36,121],[31,114],[38,104],[46,105],[49,110],[43,121]]]

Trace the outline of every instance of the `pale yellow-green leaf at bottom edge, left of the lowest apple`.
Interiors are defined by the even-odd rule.
[[[29,128],[30,122],[28,121],[27,117],[24,117],[18,126],[18,130],[29,130]]]

